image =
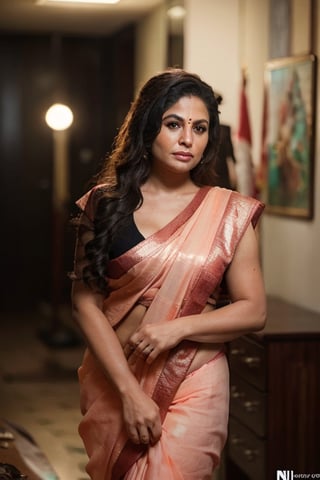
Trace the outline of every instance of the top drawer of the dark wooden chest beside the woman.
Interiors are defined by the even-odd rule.
[[[248,337],[234,340],[229,345],[229,362],[231,371],[236,372],[259,390],[266,390],[266,350],[262,345]]]

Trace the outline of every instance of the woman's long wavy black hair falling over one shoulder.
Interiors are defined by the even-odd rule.
[[[208,144],[202,161],[191,171],[198,186],[214,185],[214,163],[219,147],[219,104],[221,97],[193,73],[168,69],[153,76],[140,90],[115,138],[111,154],[95,179],[94,238],[85,245],[83,280],[108,294],[106,276],[113,239],[124,222],[143,202],[140,187],[151,169],[151,147],[160,132],[163,113],[181,97],[196,96],[209,113]]]

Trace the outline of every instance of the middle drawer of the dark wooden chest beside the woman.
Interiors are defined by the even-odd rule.
[[[231,371],[230,413],[260,437],[266,431],[266,394]]]

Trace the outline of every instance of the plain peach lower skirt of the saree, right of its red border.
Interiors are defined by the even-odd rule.
[[[160,441],[125,480],[211,480],[227,436],[227,383],[224,354],[188,375],[168,409]]]

